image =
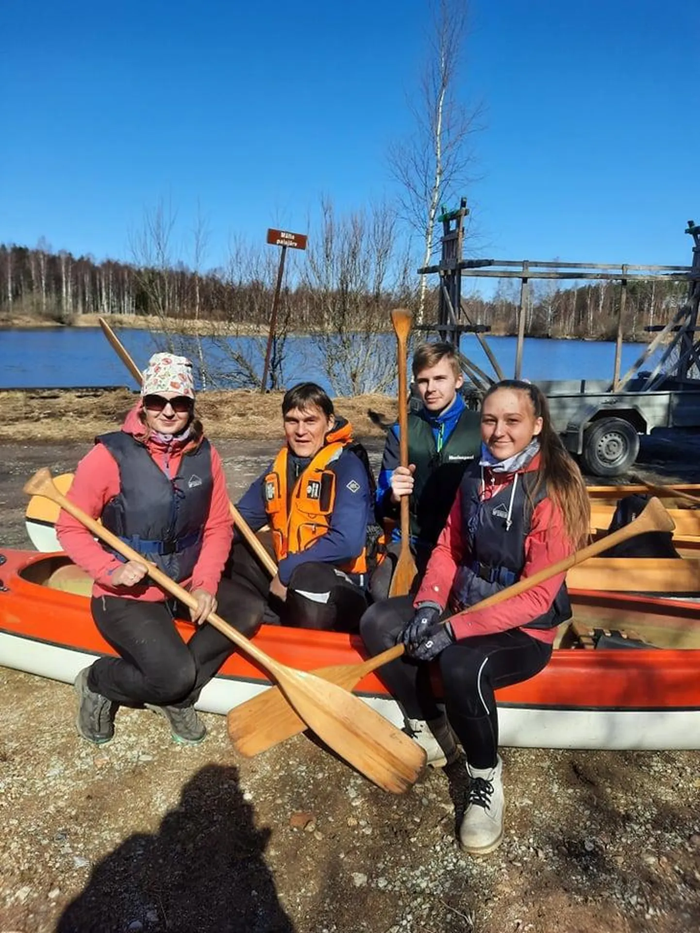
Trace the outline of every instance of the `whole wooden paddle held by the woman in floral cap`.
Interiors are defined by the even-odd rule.
[[[196,608],[197,600],[190,592],[59,492],[48,469],[38,470],[25,483],[24,492],[56,502],[127,560],[146,564],[148,575],[163,590]],[[425,752],[367,703],[337,684],[275,661],[216,613],[210,613],[207,621],[268,671],[301,720],[357,771],[394,794],[408,790],[417,780],[426,764]]]

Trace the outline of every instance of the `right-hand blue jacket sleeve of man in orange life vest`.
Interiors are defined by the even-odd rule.
[[[344,564],[361,554],[367,540],[372,501],[370,482],[365,467],[351,451],[343,451],[329,465],[335,473],[335,502],[330,516],[330,527],[325,535],[316,538],[306,550],[279,563],[280,582],[287,586],[295,567],[309,561],[324,564]]]

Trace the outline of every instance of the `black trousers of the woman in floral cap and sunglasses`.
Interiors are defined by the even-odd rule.
[[[241,619],[237,592],[223,578],[217,590],[217,613],[239,632],[251,635],[255,625]],[[92,664],[88,687],[109,700],[126,705],[186,706],[217,673],[235,646],[226,635],[204,622],[183,641],[173,611],[189,619],[186,606],[147,603],[119,596],[97,596],[92,618],[119,658],[99,658]]]

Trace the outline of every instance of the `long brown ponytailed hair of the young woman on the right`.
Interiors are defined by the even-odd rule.
[[[503,382],[491,386],[483,401],[498,389],[522,392],[529,398],[535,417],[542,419],[542,429],[539,432],[539,477],[531,495],[534,499],[541,484],[546,484],[547,494],[564,515],[564,526],[569,541],[575,548],[580,548],[590,535],[591,500],[588,498],[578,464],[553,428],[547,398],[537,385],[519,379],[504,379]]]

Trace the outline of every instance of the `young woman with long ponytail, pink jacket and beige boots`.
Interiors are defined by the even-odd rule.
[[[481,460],[464,475],[415,598],[375,603],[360,622],[372,655],[397,641],[406,646],[407,656],[381,675],[428,763],[455,761],[455,733],[465,750],[459,838],[472,855],[491,852],[503,832],[494,692],[545,666],[556,626],[571,610],[564,574],[498,606],[463,610],[567,557],[589,527],[581,472],[553,430],[546,398],[530,383],[497,383],[483,399]],[[446,715],[430,689],[433,660]]]

